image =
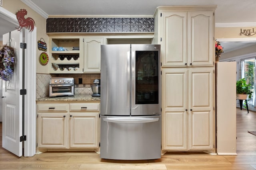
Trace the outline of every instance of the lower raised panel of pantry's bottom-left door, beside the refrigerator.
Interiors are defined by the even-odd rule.
[[[165,112],[163,126],[162,149],[187,150],[187,112]]]

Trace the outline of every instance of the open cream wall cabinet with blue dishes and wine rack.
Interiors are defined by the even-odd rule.
[[[80,37],[50,37],[49,73],[82,73],[82,40]]]

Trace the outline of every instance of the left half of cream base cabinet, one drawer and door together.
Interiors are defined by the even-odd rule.
[[[38,147],[68,148],[68,104],[38,104]]]

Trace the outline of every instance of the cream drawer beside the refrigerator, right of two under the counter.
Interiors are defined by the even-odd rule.
[[[70,111],[100,111],[100,104],[70,104]]]

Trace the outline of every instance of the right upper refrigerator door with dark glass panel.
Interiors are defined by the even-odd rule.
[[[144,57],[141,57],[142,59],[138,62],[138,54],[140,53],[142,53]],[[154,61],[152,62],[156,68],[147,68],[147,70],[143,68],[138,70],[140,67],[138,66],[139,64],[143,67],[151,64],[146,61],[150,58],[149,56],[151,54],[155,55],[153,57]],[[131,115],[161,115],[160,45],[132,44],[131,64]],[[149,67],[153,66],[151,65]],[[147,80],[145,75],[142,76],[139,74],[148,74],[148,76],[151,76],[151,79],[149,78]],[[151,83],[149,81],[154,82]],[[156,86],[157,88],[155,88]],[[139,92],[139,88],[142,92]],[[138,100],[140,100],[139,98],[144,98],[144,102],[138,102]],[[154,101],[151,102],[148,100],[147,103],[146,98],[153,98],[152,100]]]

